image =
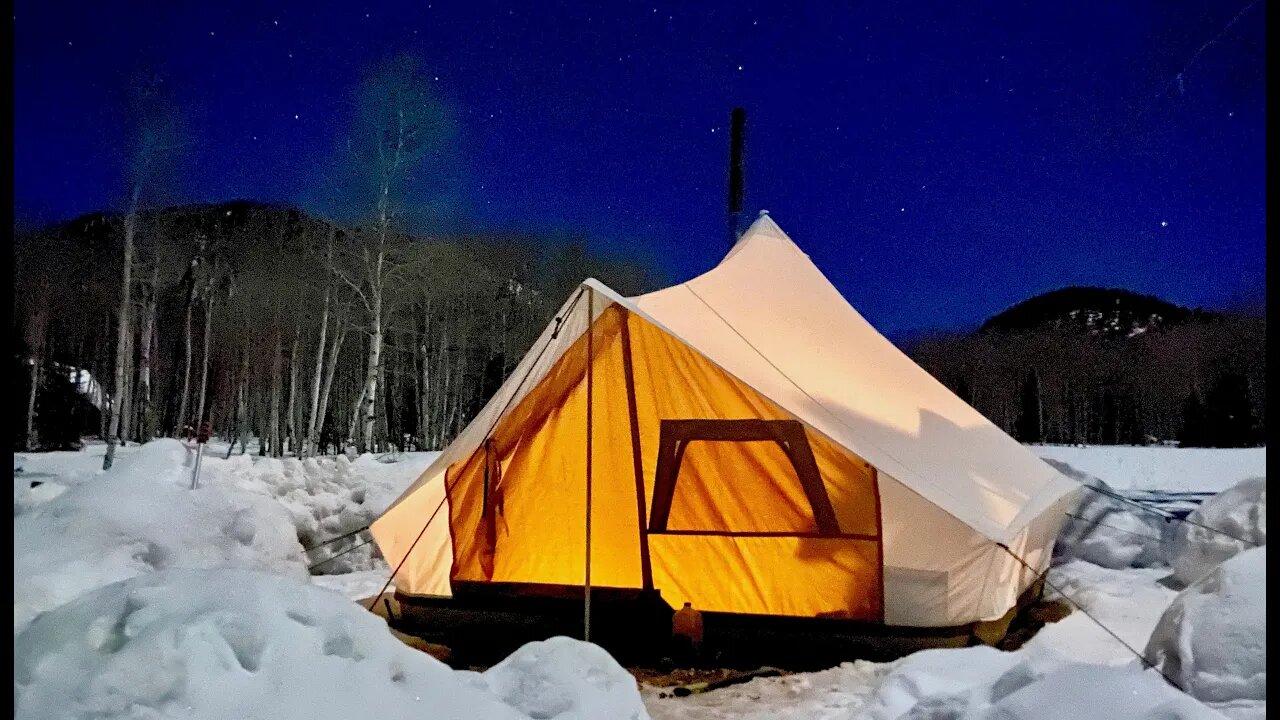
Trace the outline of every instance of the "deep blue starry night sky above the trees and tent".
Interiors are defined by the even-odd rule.
[[[19,222],[116,204],[140,64],[188,118],[172,199],[300,202],[361,74],[410,51],[479,228],[692,277],[726,250],[740,105],[750,215],[891,334],[1073,283],[1204,306],[1265,288],[1261,0],[111,5],[17,3]]]

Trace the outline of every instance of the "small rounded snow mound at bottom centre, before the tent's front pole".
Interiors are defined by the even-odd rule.
[[[525,644],[472,682],[530,717],[649,716],[635,678],[608,652],[564,637]]]

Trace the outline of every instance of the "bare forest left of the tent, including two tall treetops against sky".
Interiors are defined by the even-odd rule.
[[[438,448],[584,278],[646,287],[643,266],[581,242],[424,232],[456,181],[457,132],[411,55],[353,88],[306,211],[161,209],[198,173],[168,87],[131,81],[114,211],[15,233],[20,448],[90,432],[106,469],[119,442],[205,423],[275,456]],[[83,373],[92,409],[77,401]]]

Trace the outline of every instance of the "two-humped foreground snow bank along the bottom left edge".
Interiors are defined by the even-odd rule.
[[[247,570],[101,588],[14,639],[14,717],[644,720],[635,680],[570,638],[457,673],[342,596]]]

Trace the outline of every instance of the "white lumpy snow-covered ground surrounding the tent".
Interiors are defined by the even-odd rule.
[[[380,716],[422,716],[431,707],[440,717],[648,712],[783,720],[1074,720],[1100,707],[1116,717],[1266,712],[1265,691],[1258,697],[1265,650],[1206,651],[1212,639],[1196,633],[1204,624],[1199,618],[1226,607],[1215,635],[1265,637],[1265,614],[1256,607],[1265,598],[1265,568],[1235,562],[1228,575],[1213,575],[1215,562],[1245,544],[1170,532],[1162,518],[1103,495],[1078,510],[1084,520],[1064,533],[1048,582],[1119,639],[1076,611],[1015,652],[927,651],[671,697],[654,687],[635,692],[603,651],[563,638],[529,646],[484,674],[453,673],[424,653],[402,652],[380,620],[351,602],[378,592],[389,574],[372,544],[308,578],[308,565],[364,542],[367,532],[308,553],[305,546],[367,525],[434,454],[300,461],[252,452],[225,459],[225,446],[209,450],[197,491],[189,489],[193,456],[177,441],[120,448],[109,473],[101,471],[102,446],[14,457],[15,716],[58,708],[70,717],[219,717],[248,710],[264,717],[343,717],[356,707]],[[1176,493],[1217,493],[1266,475],[1265,448],[1033,450],[1082,482],[1101,480],[1160,507],[1183,503],[1183,511],[1201,497]],[[32,480],[41,484],[31,488]],[[1231,524],[1249,543],[1265,543],[1265,480],[1254,480],[1192,518]],[[1171,571],[1179,556],[1208,565],[1188,564],[1187,573],[1207,575],[1183,594]],[[1192,694],[1212,708],[1143,670],[1134,651],[1144,650],[1165,667],[1170,657],[1181,664],[1166,674],[1181,673],[1184,685],[1210,688]],[[261,667],[268,657],[270,671],[244,665]],[[1193,657],[1201,665],[1188,666]],[[311,702],[284,700],[300,694]]]

